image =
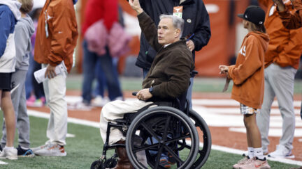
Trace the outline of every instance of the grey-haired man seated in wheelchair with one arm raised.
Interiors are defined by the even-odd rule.
[[[143,89],[138,91],[135,101],[109,102],[101,111],[100,131],[105,142],[108,122],[124,118],[125,113],[135,113],[153,102],[169,101],[180,97],[189,86],[190,72],[194,69],[192,52],[186,40],[180,39],[183,19],[173,15],[161,15],[159,25],[143,11],[138,0],[129,0],[131,8],[138,14],[138,21],[146,39],[157,51]],[[120,129],[110,129],[108,144],[124,143]],[[117,147],[119,160],[115,168],[133,168],[124,147]]]

